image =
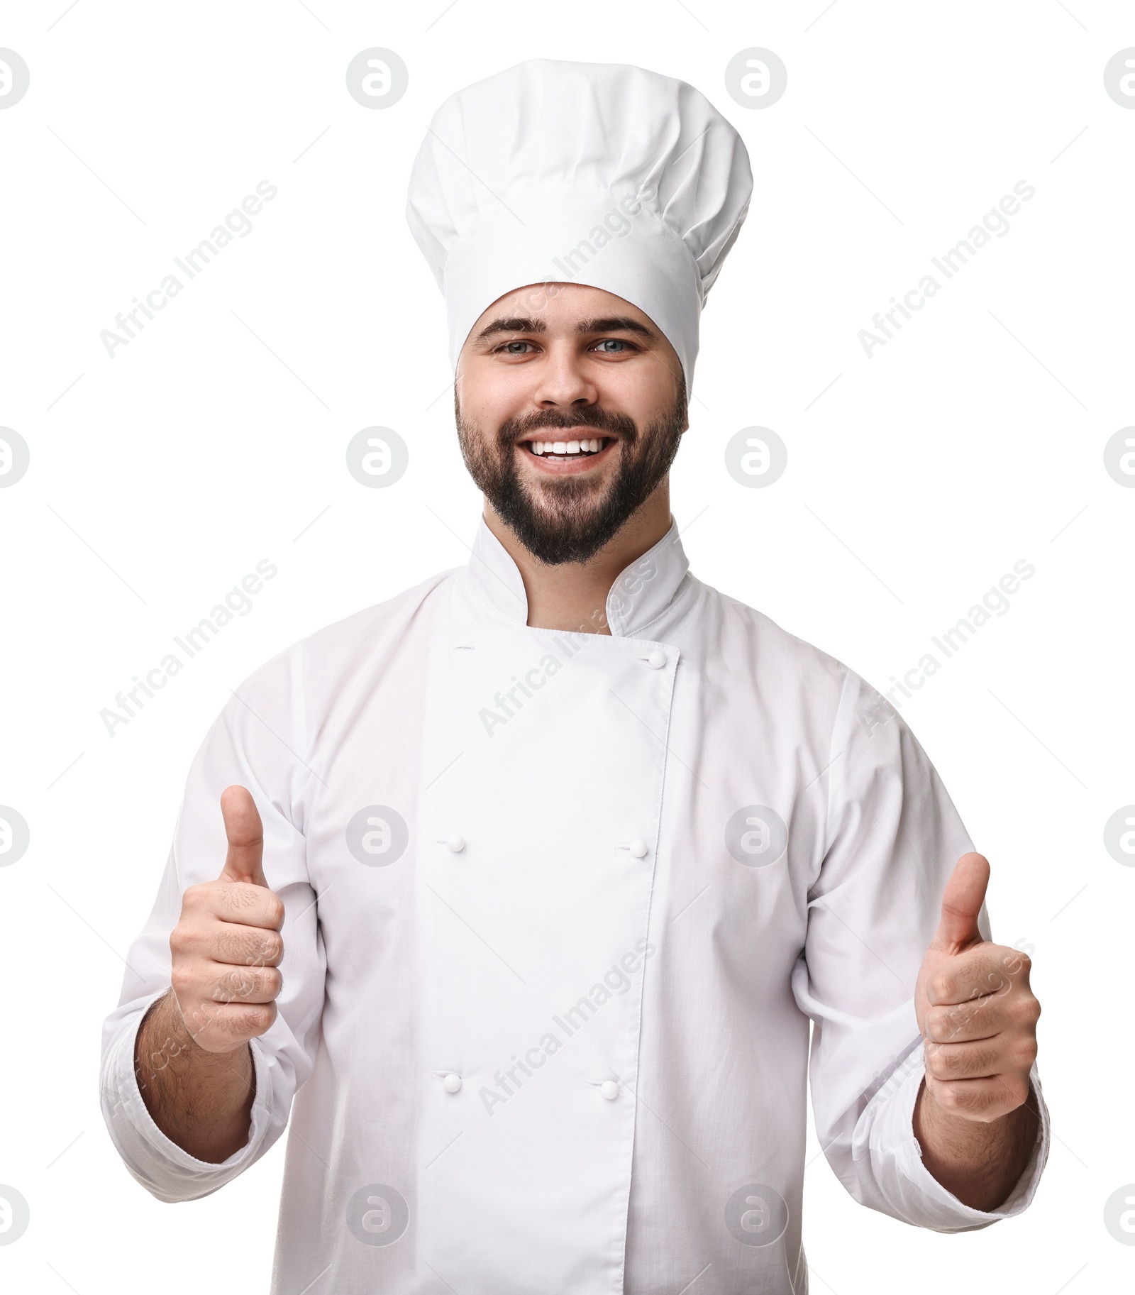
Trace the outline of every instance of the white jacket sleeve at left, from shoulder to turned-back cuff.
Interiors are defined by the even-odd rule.
[[[305,763],[302,645],[242,684],[193,760],[158,897],[127,956],[118,1009],[104,1027],[101,1098],[126,1167],[159,1200],[216,1191],[283,1132],[295,1090],[318,1045],[326,960],[308,879],[305,796],[317,776]],[[170,988],[170,932],[189,886],[216,881],[225,860],[220,794],[248,789],[264,824],[264,874],[285,906],[277,1018],[252,1040],[255,1099],[247,1143],[220,1164],[189,1155],[157,1127],[138,1090],[135,1042],[150,1006]],[[160,1083],[160,1070],[155,1083]]]

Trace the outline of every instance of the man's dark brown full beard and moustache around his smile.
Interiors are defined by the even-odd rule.
[[[528,552],[547,566],[586,562],[610,543],[654,493],[670,470],[686,425],[685,385],[661,418],[641,433],[634,420],[598,405],[541,409],[510,418],[489,438],[461,417],[454,398],[457,436],[470,477],[497,515]],[[532,486],[522,478],[515,447],[541,427],[591,427],[619,438],[619,470],[606,484],[584,477],[547,478]]]

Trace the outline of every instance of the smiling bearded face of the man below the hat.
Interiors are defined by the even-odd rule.
[[[466,466],[541,562],[586,562],[663,488],[686,417],[678,356],[621,297],[536,284],[494,302],[454,387]]]

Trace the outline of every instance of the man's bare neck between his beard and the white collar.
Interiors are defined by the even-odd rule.
[[[611,585],[670,528],[669,482],[663,480],[613,539],[588,562],[547,566],[524,548],[488,500],[484,517],[485,524],[520,571],[532,628],[610,635],[606,607]]]

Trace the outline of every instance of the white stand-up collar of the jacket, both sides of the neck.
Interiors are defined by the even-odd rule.
[[[621,638],[638,636],[673,602],[689,569],[678,523],[670,519],[669,531],[657,544],[635,558],[611,585],[606,607],[611,633]],[[484,519],[478,526],[468,574],[478,593],[502,616],[518,625],[528,624],[528,596],[520,570]]]

